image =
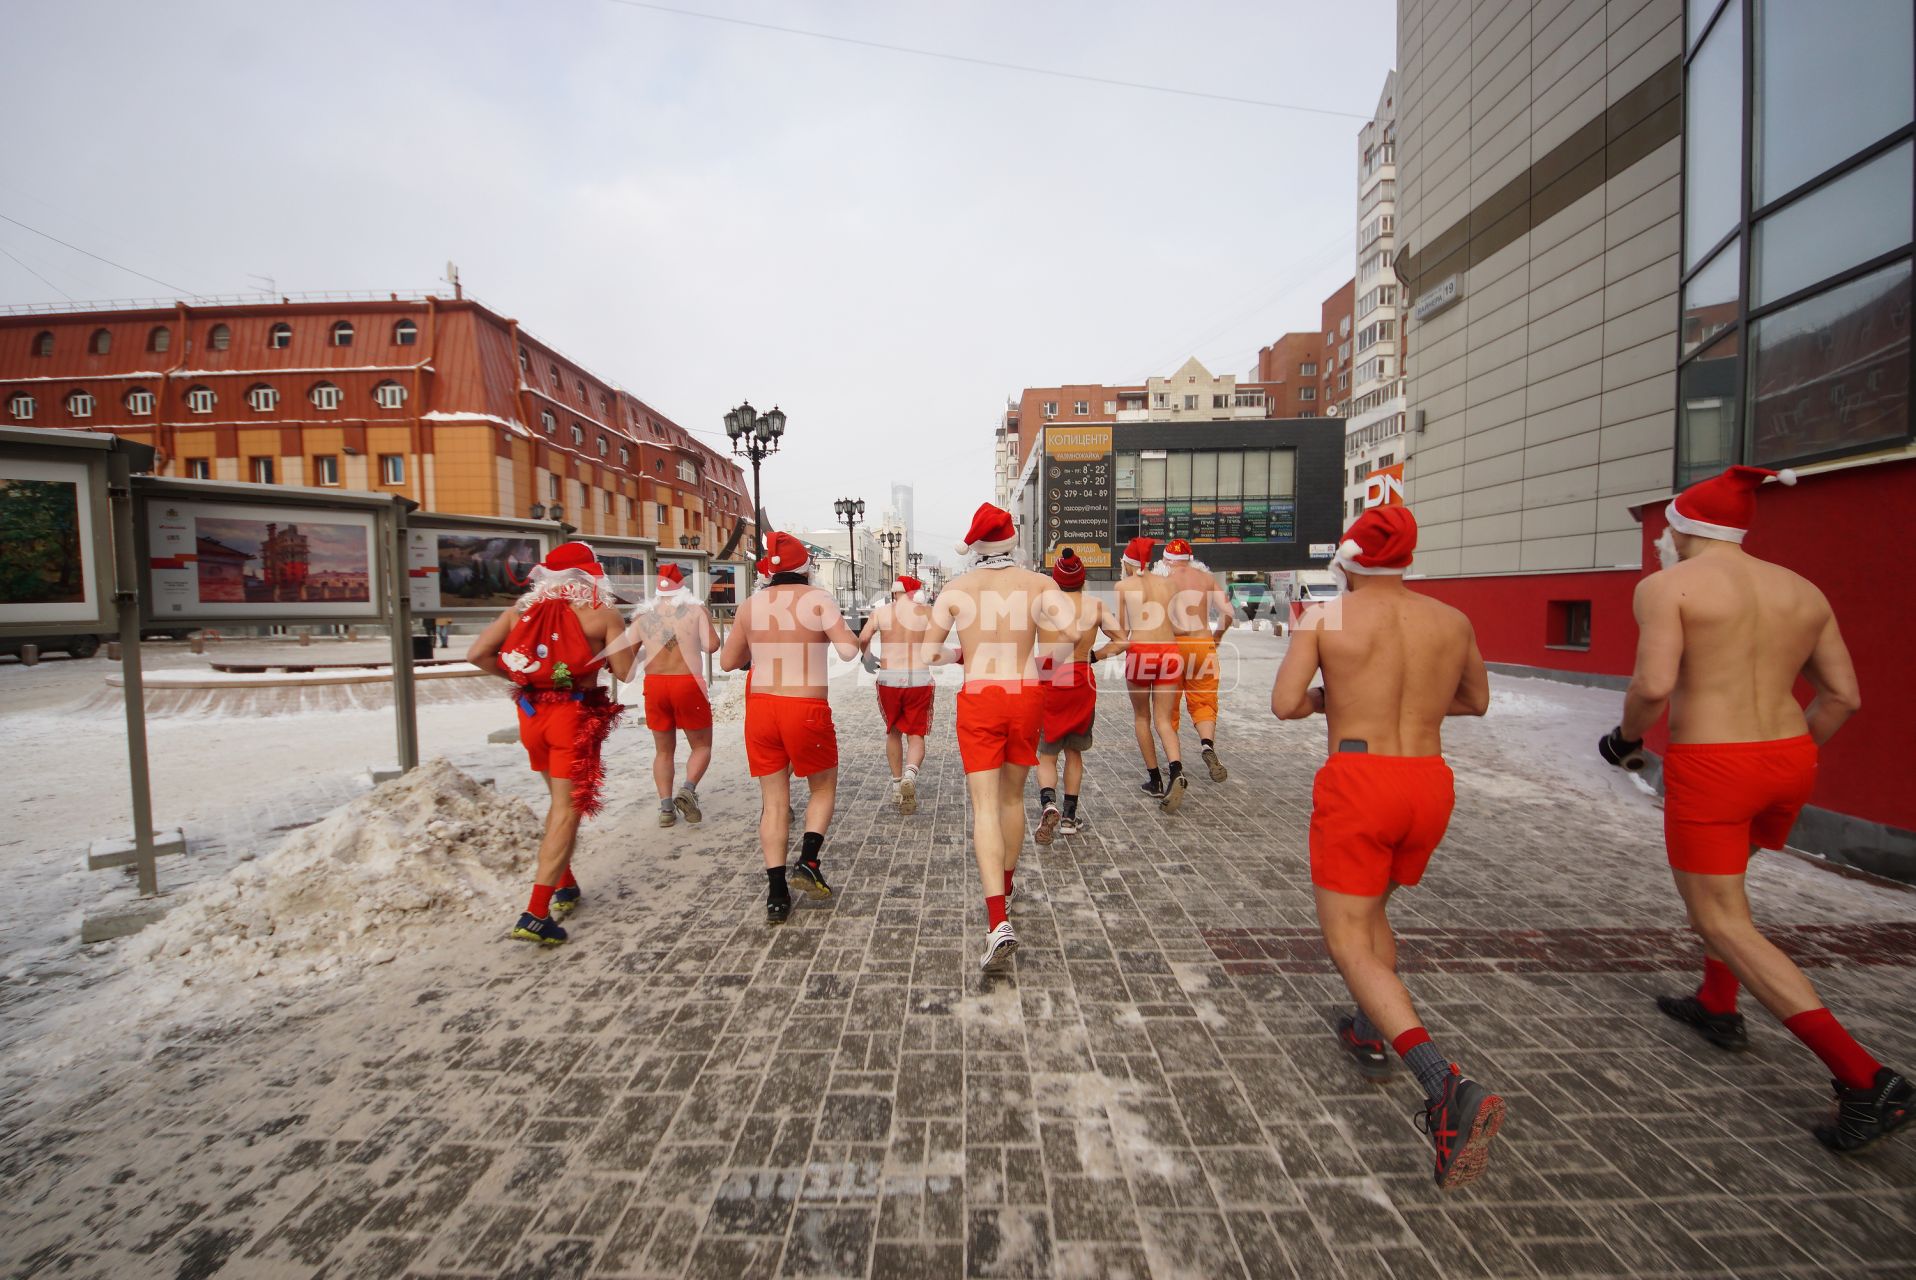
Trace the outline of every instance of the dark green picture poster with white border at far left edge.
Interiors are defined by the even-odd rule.
[[[0,462],[0,623],[100,621],[100,550],[84,462]]]

